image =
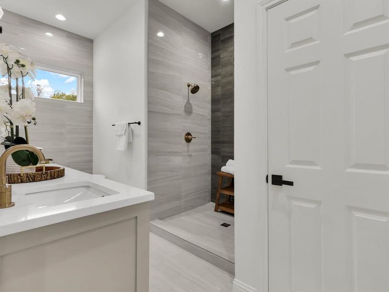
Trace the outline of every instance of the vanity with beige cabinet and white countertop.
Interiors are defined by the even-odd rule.
[[[39,208],[23,194],[31,183],[14,185],[16,206],[0,211],[0,292],[148,292],[154,194],[88,174],[71,180],[80,173],[66,171],[34,187],[89,178],[116,193]]]

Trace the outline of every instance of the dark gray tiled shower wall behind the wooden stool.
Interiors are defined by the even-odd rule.
[[[234,24],[212,33],[212,201],[215,172],[234,157]]]

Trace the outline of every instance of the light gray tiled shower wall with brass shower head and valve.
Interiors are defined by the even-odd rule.
[[[148,189],[162,219],[211,199],[211,34],[156,0],[148,26]]]

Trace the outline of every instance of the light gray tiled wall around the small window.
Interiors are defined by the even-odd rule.
[[[46,157],[91,173],[93,41],[9,11],[0,25],[0,41],[25,48],[35,62],[84,73],[84,103],[35,98],[38,124],[29,127],[29,134],[30,143],[42,147]]]

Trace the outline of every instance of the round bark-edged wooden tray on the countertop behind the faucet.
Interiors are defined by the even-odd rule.
[[[59,166],[36,166],[35,172],[8,173],[8,183],[34,183],[59,179],[65,176],[65,168]]]

